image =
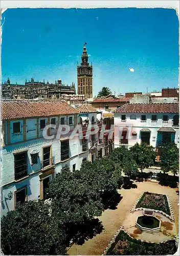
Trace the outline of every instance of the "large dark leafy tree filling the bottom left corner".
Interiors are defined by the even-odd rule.
[[[69,241],[49,206],[29,201],[2,218],[1,246],[7,255],[64,255]]]

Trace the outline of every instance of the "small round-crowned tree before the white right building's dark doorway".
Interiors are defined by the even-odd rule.
[[[148,168],[153,165],[157,155],[154,148],[152,146],[148,146],[146,143],[136,143],[130,147],[130,154],[141,169],[141,172],[143,172],[144,168]]]

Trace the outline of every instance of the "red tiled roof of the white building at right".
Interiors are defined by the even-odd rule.
[[[125,104],[116,110],[118,113],[178,113],[178,103],[136,103]]]

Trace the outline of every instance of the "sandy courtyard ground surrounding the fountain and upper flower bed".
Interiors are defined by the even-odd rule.
[[[99,220],[102,221],[104,230],[97,234],[96,237],[86,241],[83,245],[72,245],[68,250],[70,255],[101,255],[111,239],[113,239],[115,233],[121,225],[125,227],[125,230],[132,233],[134,238],[139,238],[143,240],[153,242],[161,242],[163,240],[168,240],[177,235],[178,230],[178,195],[176,190],[178,188],[170,188],[167,186],[161,186],[156,182],[134,182],[138,187],[131,189],[120,189],[119,194],[122,196],[122,200],[117,206],[117,209],[110,210],[107,209],[103,212]],[[150,193],[157,193],[169,196],[175,222],[170,222],[169,219],[162,216],[161,214],[156,214],[156,218],[159,218],[163,225],[161,227],[161,232],[156,234],[150,234],[145,232],[137,232],[135,227],[135,222],[131,222],[131,219],[136,221],[137,215],[141,214],[139,211],[130,213],[130,209],[137,201],[138,197],[142,192],[149,191]],[[133,218],[132,218],[133,216]],[[143,237],[142,237],[143,236]]]

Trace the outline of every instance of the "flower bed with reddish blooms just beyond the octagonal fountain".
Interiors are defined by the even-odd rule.
[[[145,192],[136,205],[136,208],[162,210],[171,215],[166,195]]]

